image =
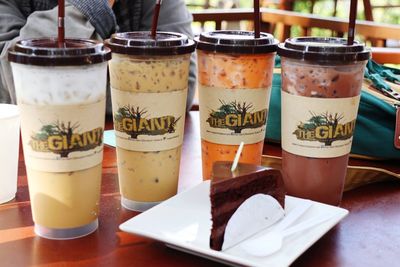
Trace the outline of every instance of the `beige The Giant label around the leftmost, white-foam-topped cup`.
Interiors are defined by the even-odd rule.
[[[26,166],[72,172],[101,164],[105,99],[66,106],[19,104]]]

